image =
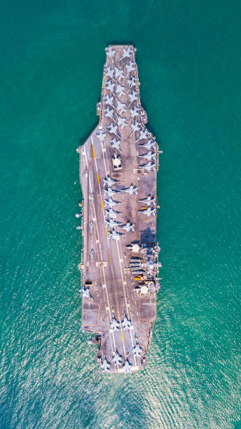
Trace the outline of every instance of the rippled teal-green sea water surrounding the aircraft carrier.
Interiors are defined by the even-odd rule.
[[[1,1],[0,428],[240,428],[238,1]],[[162,287],[143,372],[81,332],[76,147],[104,48],[133,43]]]

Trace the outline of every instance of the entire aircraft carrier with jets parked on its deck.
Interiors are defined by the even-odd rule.
[[[156,318],[158,144],[147,130],[133,46],[108,46],[99,123],[78,147],[83,330],[103,372],[142,369]]]

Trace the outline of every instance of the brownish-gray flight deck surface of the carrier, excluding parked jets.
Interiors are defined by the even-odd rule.
[[[158,247],[156,246],[156,170],[158,168],[158,145],[149,134],[146,139],[139,139],[140,131],[132,132],[131,124],[137,121],[142,130],[145,130],[146,113],[141,109],[139,100],[139,81],[137,74],[137,64],[134,64],[134,70],[128,73],[127,64],[130,61],[135,63],[135,48],[129,47],[130,57],[122,60],[123,48],[125,51],[128,46],[109,46],[107,49],[114,50],[113,57],[106,55],[106,64],[104,64],[104,76],[102,83],[101,102],[97,105],[99,114],[99,124],[86,140],[82,147],[78,148],[80,155],[80,179],[83,190],[83,255],[82,255],[82,282],[83,289],[85,282],[90,282],[89,292],[92,299],[83,297],[83,329],[100,334],[100,350],[97,351],[98,362],[106,372],[129,372],[130,370],[141,369],[145,365],[145,355],[149,347],[151,337],[151,327],[156,318],[156,292],[158,290]],[[106,76],[107,67],[113,70],[113,78]],[[123,70],[123,78],[115,77],[115,69]],[[128,80],[131,76],[137,78],[135,86],[130,88]],[[109,83],[107,83],[109,81]],[[117,85],[121,83],[124,87],[124,94],[120,96],[117,93]],[[106,89],[109,84],[113,84],[110,90]],[[130,102],[130,93],[135,90],[137,100]],[[106,104],[105,97],[113,96],[113,107]],[[116,109],[118,100],[125,103],[126,111],[121,114]],[[106,116],[106,109],[113,109],[113,120]],[[131,118],[130,109],[137,107],[137,116]],[[109,132],[108,126],[112,122],[116,125],[118,117],[126,118],[126,126],[119,125],[117,128],[118,136],[121,140],[121,151],[111,147],[111,139],[115,135]],[[106,132],[104,139],[97,136],[100,129]],[[137,141],[138,139],[138,141]],[[155,142],[151,148],[154,170],[146,171],[145,168],[139,168],[148,161],[146,158],[139,158],[139,155],[147,154],[148,149],[140,147],[148,140]],[[106,215],[104,210],[105,200],[108,196],[104,195],[103,179],[114,177],[116,172],[113,170],[113,154],[121,156],[123,168],[117,170],[120,173],[120,181],[111,186],[111,189],[120,192],[115,193],[113,200],[119,201],[119,204],[113,206],[113,210],[118,214],[113,217],[118,221],[118,226],[114,226],[117,232],[122,233],[117,240],[109,236],[110,226],[106,226]],[[139,169],[139,170],[138,170]],[[114,174],[113,174],[114,172]],[[137,186],[137,194],[133,196],[129,193],[121,192],[130,185]],[[155,200],[150,207],[154,207],[154,212],[150,217],[141,212],[142,207],[148,207],[147,203],[139,201],[147,196],[154,197]],[[143,209],[144,210],[144,209]],[[93,229],[90,231],[90,221]],[[128,221],[135,224],[135,231],[127,232],[121,229]],[[132,252],[126,246],[131,243],[139,243],[140,252]],[[143,278],[135,280],[135,274],[130,271],[130,257],[141,258],[144,261],[144,249],[149,249],[153,256],[154,268],[151,275],[144,272]],[[92,252],[92,260],[90,253]],[[146,268],[145,270],[146,271]],[[149,288],[147,294],[140,293],[140,287],[145,284]],[[119,329],[111,328],[113,315],[120,322]],[[124,315],[130,320],[130,329],[124,329]],[[124,324],[125,325],[125,324]],[[142,349],[139,355],[134,355],[133,348],[139,343]],[[113,355],[118,351],[121,356],[121,363],[114,365]],[[144,357],[144,359],[143,359]],[[128,360],[130,368],[125,365]],[[108,365],[109,364],[109,365]],[[124,365],[124,367],[123,367]]]

